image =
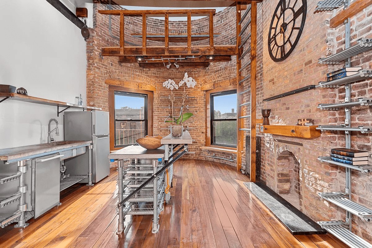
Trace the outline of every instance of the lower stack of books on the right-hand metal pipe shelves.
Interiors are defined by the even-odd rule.
[[[350,165],[367,165],[368,152],[356,149],[334,148],[331,149],[331,159],[336,162]]]

